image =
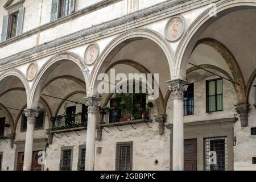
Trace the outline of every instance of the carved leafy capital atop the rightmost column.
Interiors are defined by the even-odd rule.
[[[188,89],[188,81],[178,79],[167,81],[167,84],[173,99],[183,99],[183,93]]]

